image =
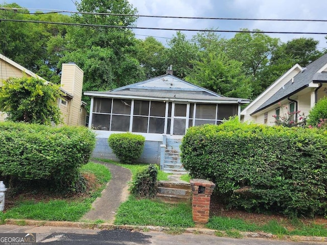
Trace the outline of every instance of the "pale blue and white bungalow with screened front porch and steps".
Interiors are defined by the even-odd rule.
[[[141,162],[160,163],[166,171],[183,170],[179,144],[186,130],[203,124],[220,124],[239,115],[248,100],[230,98],[167,74],[110,91],[84,92],[91,96],[89,128],[97,133],[94,157],[114,159],[110,134],[144,135]]]

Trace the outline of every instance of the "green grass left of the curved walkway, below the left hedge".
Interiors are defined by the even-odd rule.
[[[102,184],[98,190],[95,190],[91,197],[78,200],[51,200],[49,202],[35,202],[33,200],[21,201],[16,203],[15,207],[0,213],[2,220],[6,218],[22,218],[36,220],[67,220],[77,221],[91,208],[92,202],[100,197],[101,191],[110,180],[111,175],[107,167],[87,163],[81,168],[81,171],[95,174],[98,181]]]

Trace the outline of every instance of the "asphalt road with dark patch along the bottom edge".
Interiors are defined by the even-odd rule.
[[[1,225],[0,237],[3,233],[36,233],[38,244],[49,245],[322,245],[324,242],[290,242],[261,238],[226,238],[213,235],[196,235],[183,233],[170,235],[163,232],[135,232],[130,230],[99,230],[46,226],[14,226]]]

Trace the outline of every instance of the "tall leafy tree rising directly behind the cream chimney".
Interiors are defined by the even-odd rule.
[[[126,0],[82,0],[75,14],[78,23],[107,26],[132,26],[136,13]],[[103,14],[107,13],[107,14]],[[126,14],[126,15],[113,15]],[[84,71],[85,90],[108,90],[145,78],[136,57],[136,39],[131,30],[107,27],[73,27],[67,34],[65,57],[61,62],[73,61]]]

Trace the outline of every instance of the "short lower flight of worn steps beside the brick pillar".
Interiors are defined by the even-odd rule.
[[[185,181],[159,181],[157,198],[165,203],[191,202],[191,185]]]

